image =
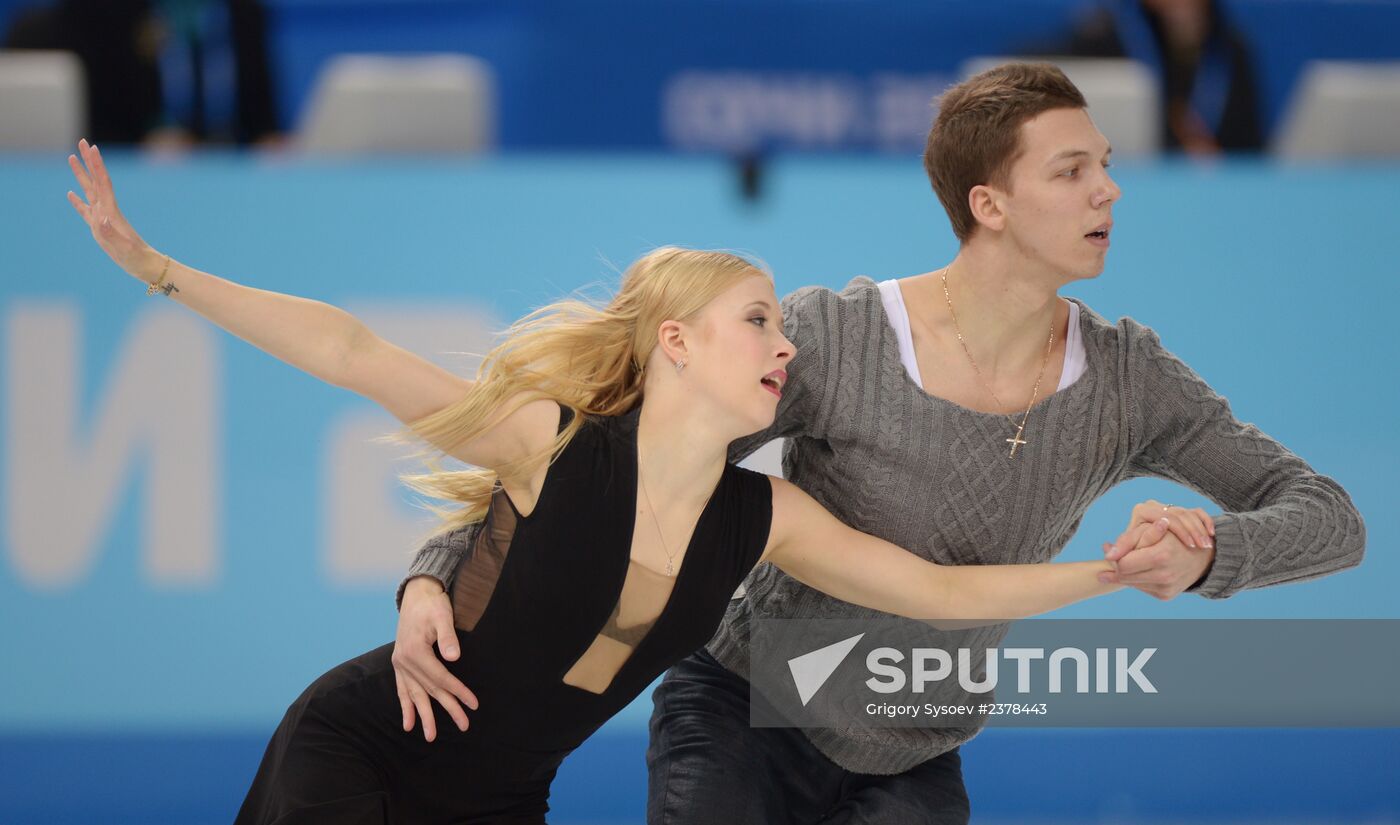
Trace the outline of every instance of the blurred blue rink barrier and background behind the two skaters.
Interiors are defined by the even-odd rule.
[[[0,3],[0,28],[34,20],[22,6]],[[272,115],[239,126],[237,4],[136,6],[164,21],[141,29],[160,102],[104,154],[137,230],[463,371],[493,329],[659,244],[753,252],[780,293],[941,265],[956,245],[918,161],[930,98],[969,59],[1074,41],[1099,8],[277,0],[260,8]],[[1278,150],[1309,60],[1400,60],[1400,3],[1225,8],[1259,144],[1217,155],[1165,123],[1116,164],[1106,272],[1065,293],[1156,328],[1239,417],[1337,478],[1369,552],[1224,602],[1130,591],[1057,615],[1400,618],[1400,157]],[[315,137],[322,71],[370,52],[480,59],[489,127],[456,146]],[[339,137],[385,119],[358,99]],[[80,129],[104,116],[84,111]],[[0,822],[230,821],[301,688],[392,639],[431,522],[395,482],[412,462],[374,441],[393,420],[146,300],[64,202],[64,155],[0,150]],[[1210,507],[1124,485],[1065,557],[1095,556],[1144,497]],[[648,712],[644,696],[566,762],[556,821],[641,822]],[[1400,822],[1394,730],[997,728],[963,756],[974,822]]]

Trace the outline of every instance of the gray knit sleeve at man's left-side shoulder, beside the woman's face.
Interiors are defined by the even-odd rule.
[[[783,298],[783,332],[795,354],[788,363],[783,399],[773,424],[729,444],[729,461],[739,462],[774,438],[811,434],[818,424],[836,366],[829,354],[839,335],[840,296],[826,287],[802,287]]]

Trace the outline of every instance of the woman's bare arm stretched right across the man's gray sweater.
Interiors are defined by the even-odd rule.
[[[934,623],[1021,619],[1119,590],[1099,581],[1112,562],[945,566],[843,524],[801,489],[773,482],[763,560],[839,599]],[[1166,532],[1144,525],[1141,541]]]

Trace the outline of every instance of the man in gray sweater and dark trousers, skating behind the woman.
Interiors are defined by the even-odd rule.
[[[979,74],[941,99],[924,165],[960,241],[932,272],[783,301],[797,345],[771,430],[787,478],[853,527],[941,563],[1030,563],[1058,553],[1113,485],[1158,476],[1222,507],[1147,501],[1109,557],[1156,598],[1225,598],[1361,562],[1347,493],[1259,429],[1147,326],[1112,324],[1058,290],[1103,270],[1120,190],[1079,91],[1046,64]],[[1133,548],[1149,520],[1173,528]],[[431,699],[459,726],[475,705],[431,646],[454,640],[442,594],[466,532],[420,550],[399,619],[405,728],[434,735]],[[966,728],[785,730],[749,726],[757,618],[868,611],[760,566],[708,649],[657,689],[651,822],[967,822],[958,747]],[[972,647],[995,647],[1004,626]],[[455,650],[442,650],[454,658]],[[431,698],[431,699],[430,699]]]

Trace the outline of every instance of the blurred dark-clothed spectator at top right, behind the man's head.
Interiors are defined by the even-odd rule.
[[[1253,57],[1218,0],[1109,0],[1056,52],[1148,66],[1162,83],[1169,150],[1264,148]]]

